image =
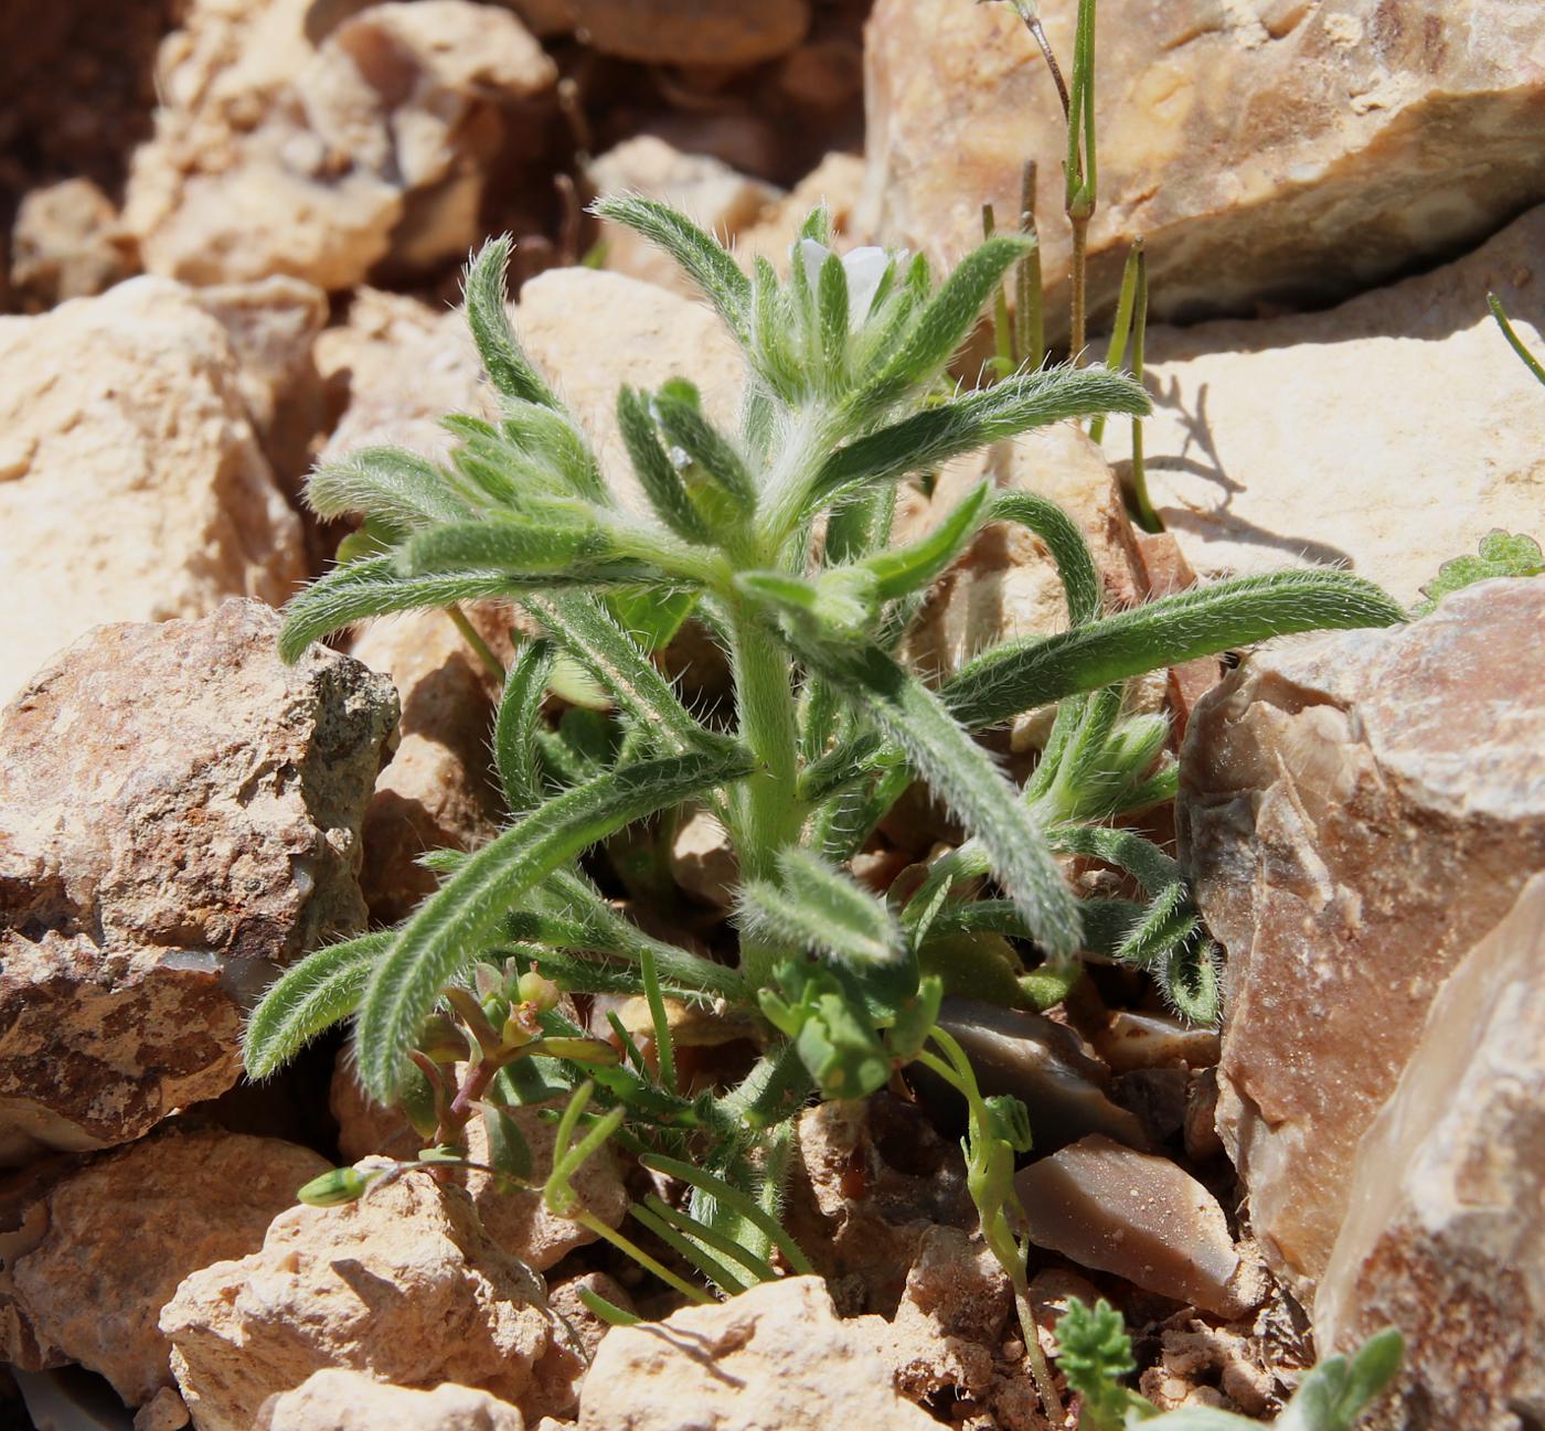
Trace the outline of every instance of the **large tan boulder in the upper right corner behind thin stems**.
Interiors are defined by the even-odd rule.
[[[1040,11],[1066,70],[1075,0]],[[1344,297],[1545,199],[1537,19],[1517,0],[1111,0],[1095,308],[1139,233],[1154,314],[1193,318]],[[955,0],[879,0],[867,39],[870,226],[947,266],[980,243],[984,201],[1018,213],[1037,159],[1057,321],[1066,141],[1035,42],[1010,6]]]

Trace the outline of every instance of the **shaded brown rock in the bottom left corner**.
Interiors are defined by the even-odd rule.
[[[167,1128],[63,1174],[32,1246],[5,1250],[0,1352],[28,1369],[76,1361],[130,1405],[151,1400],[171,1385],[156,1317],[178,1283],[261,1246],[326,1168],[278,1139]]]

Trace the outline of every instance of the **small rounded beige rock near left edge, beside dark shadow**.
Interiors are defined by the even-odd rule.
[[[90,179],[29,190],[11,229],[11,287],[31,309],[90,298],[134,272],[113,201]]]

